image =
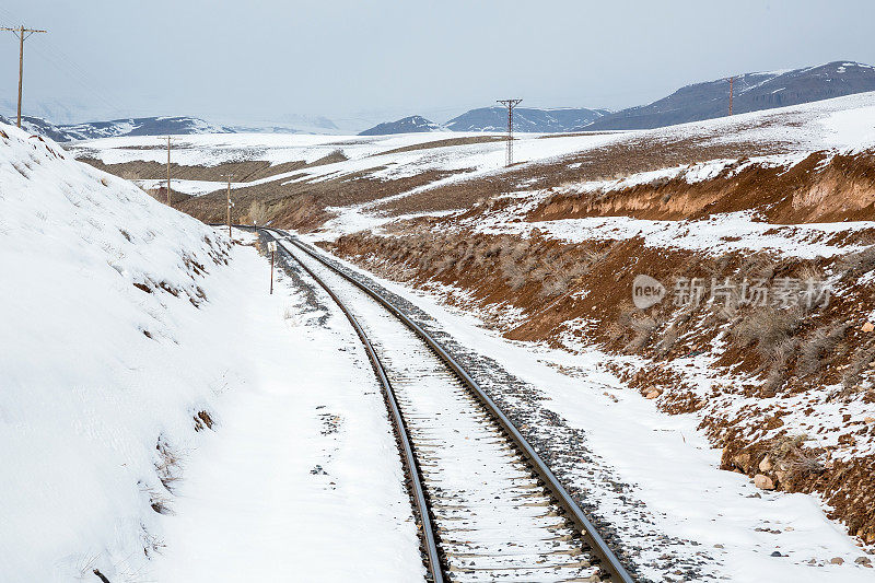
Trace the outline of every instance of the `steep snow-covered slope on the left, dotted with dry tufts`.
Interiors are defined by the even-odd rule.
[[[214,398],[213,373],[176,342],[226,250],[130,183],[0,125],[3,581],[137,576],[166,494],[159,440],[185,446]]]

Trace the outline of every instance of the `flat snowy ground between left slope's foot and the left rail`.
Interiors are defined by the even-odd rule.
[[[249,371],[186,458],[154,580],[421,579],[395,439],[358,337],[289,279],[266,295],[266,260],[252,248],[232,260],[223,288],[238,310],[212,319]]]

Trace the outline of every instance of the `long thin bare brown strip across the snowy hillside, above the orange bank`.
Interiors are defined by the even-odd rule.
[[[780,143],[708,144],[705,140],[628,139],[558,160],[523,164],[493,174],[429,188],[377,207],[389,214],[466,209],[480,199],[526,189],[546,189],[573,182],[612,179],[640,172],[695,164],[705,160],[738,159],[781,153]]]

